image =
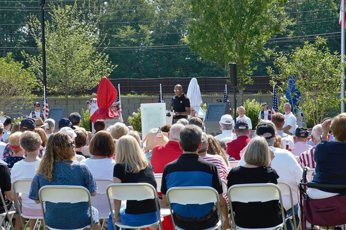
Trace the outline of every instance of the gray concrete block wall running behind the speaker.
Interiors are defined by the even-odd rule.
[[[228,96],[229,101],[231,102],[231,106],[233,106],[233,95]],[[255,99],[257,102],[266,102],[268,103],[269,108],[272,107],[272,98],[273,95],[270,94],[262,94],[262,95],[244,95],[244,101],[247,99]],[[166,108],[169,109],[171,106],[171,99],[172,96],[164,96],[164,100],[166,102]],[[217,99],[221,99],[223,101],[224,96],[223,95],[205,95],[202,96],[203,103],[215,103]],[[81,113],[82,108],[86,109],[86,101],[90,100],[90,97],[73,97],[68,99],[68,106],[70,113],[77,112]],[[42,103],[42,98],[35,98],[34,102]],[[124,122],[127,123],[127,118],[131,116],[134,112],[137,112],[137,109],[139,109],[140,104],[143,103],[157,103],[158,97],[157,96],[148,96],[148,97],[121,97],[121,107],[122,107],[122,117],[124,119]],[[48,104],[49,107],[65,107],[65,98],[61,97],[52,97],[48,98]],[[240,106],[240,100],[237,99],[237,107]],[[11,111],[11,114],[8,113],[9,116],[12,118],[16,118],[19,116],[26,116],[29,115],[30,111],[33,111],[33,107],[25,108],[21,111],[18,111],[18,109],[14,108]]]

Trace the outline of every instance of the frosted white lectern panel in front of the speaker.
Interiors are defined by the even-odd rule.
[[[166,124],[166,103],[140,104],[140,111],[143,136],[145,136],[149,130]]]

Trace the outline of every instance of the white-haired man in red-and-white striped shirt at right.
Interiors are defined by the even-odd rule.
[[[313,153],[315,152],[316,145],[321,142],[320,137],[322,133],[323,130],[321,124],[313,126],[310,136],[314,146],[309,150],[303,152],[298,159],[298,163],[302,168],[307,166],[310,167],[310,169],[315,169],[316,162],[313,160]],[[328,134],[327,141],[329,141],[329,138],[330,134]]]

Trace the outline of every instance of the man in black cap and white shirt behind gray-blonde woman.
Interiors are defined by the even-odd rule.
[[[257,125],[256,134],[263,136],[268,142],[269,148],[274,152],[274,159],[272,160],[271,167],[275,169],[279,175],[277,182],[287,183],[292,190],[294,213],[297,224],[299,223],[298,215],[298,185],[303,175],[303,170],[295,160],[293,154],[282,148],[275,148],[275,125],[271,121],[262,121]],[[244,156],[240,159],[238,166],[244,165]],[[282,201],[288,215],[292,215],[290,193],[282,193]],[[291,230],[289,221],[286,222],[287,229]]]

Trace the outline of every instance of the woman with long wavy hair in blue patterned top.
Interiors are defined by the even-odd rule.
[[[39,203],[38,191],[45,185],[77,185],[96,195],[97,185],[89,167],[74,161],[75,145],[66,133],[52,134],[46,146],[46,153],[38,165],[37,174],[31,183],[29,198]],[[92,207],[95,230],[100,230],[97,209]],[[58,229],[79,229],[90,224],[88,202],[52,203],[46,202],[46,225]]]

